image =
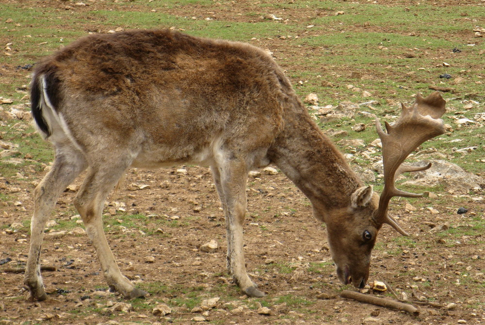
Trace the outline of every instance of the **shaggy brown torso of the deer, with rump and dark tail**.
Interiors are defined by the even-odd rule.
[[[288,88],[275,62],[248,44],[164,30],[97,34],[38,65],[32,115],[44,137],[55,142],[59,127],[81,151],[100,141],[108,150],[115,139],[132,148],[133,166],[208,166],[221,135],[248,151],[267,148]]]

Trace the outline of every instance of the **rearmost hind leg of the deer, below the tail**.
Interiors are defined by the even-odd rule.
[[[67,147],[56,148],[56,157],[51,170],[35,188],[29,257],[24,275],[24,284],[30,291],[31,301],[47,298],[39,264],[46,222],[59,195],[84,169],[85,161],[81,154]]]

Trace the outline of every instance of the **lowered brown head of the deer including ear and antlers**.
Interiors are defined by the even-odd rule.
[[[344,284],[365,286],[369,277],[371,251],[379,229],[387,223],[400,234],[409,236],[397,221],[388,214],[389,201],[393,196],[420,197],[395,187],[397,176],[407,171],[423,171],[431,167],[402,165],[404,159],[423,142],[444,133],[443,120],[445,101],[436,92],[426,98],[419,94],[416,101],[407,107],[402,104],[400,118],[390,125],[387,133],[376,118],[377,133],[382,141],[384,164],[384,189],[380,197],[372,187],[358,188],[351,196],[351,205],[337,211],[327,221],[328,240],[332,258],[337,265],[337,274]],[[350,216],[350,217],[349,217]]]

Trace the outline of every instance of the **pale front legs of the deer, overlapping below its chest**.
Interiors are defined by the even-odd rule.
[[[243,160],[226,161],[211,167],[217,192],[226,216],[227,269],[234,282],[250,297],[263,297],[249,278],[242,248],[242,222],[246,213],[247,169]]]

